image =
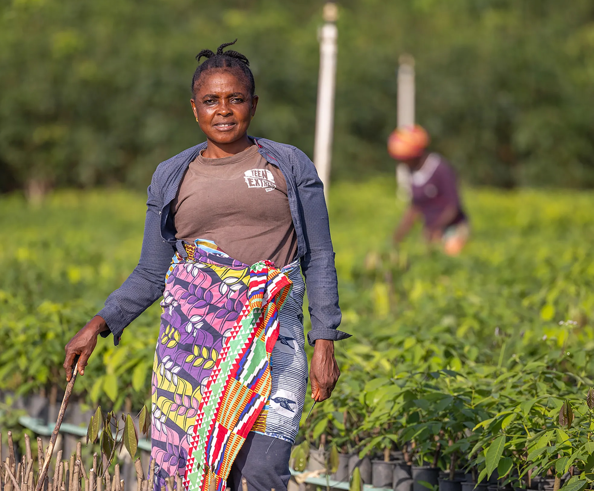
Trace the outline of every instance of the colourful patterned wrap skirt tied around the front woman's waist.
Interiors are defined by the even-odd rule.
[[[179,473],[185,489],[221,491],[248,432],[268,434],[279,309],[292,287],[289,277],[299,287],[301,274],[296,263],[282,271],[270,261],[243,264],[209,241],[185,249],[187,258],[176,254],[166,277],[154,357],[154,490]],[[297,428],[307,387],[307,357],[298,344],[292,364],[301,367],[295,378],[299,395],[273,397],[293,409],[289,426],[296,421]]]

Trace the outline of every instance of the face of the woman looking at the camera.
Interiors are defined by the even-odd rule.
[[[200,77],[191,104],[208,140],[227,145],[247,134],[258,96],[250,96],[245,80],[233,72],[210,69]]]

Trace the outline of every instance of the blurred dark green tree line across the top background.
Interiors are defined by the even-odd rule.
[[[322,2],[5,0],[0,190],[146,186],[202,141],[200,49],[239,38],[260,95],[251,134],[311,155]],[[335,179],[393,172],[397,59],[416,58],[418,121],[463,178],[594,186],[589,0],[340,2]]]

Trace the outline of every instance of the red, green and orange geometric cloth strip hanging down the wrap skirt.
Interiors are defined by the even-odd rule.
[[[217,491],[262,411],[271,389],[270,354],[279,335],[278,312],[291,281],[270,261],[252,265],[248,299],[223,344],[198,406],[184,487]]]

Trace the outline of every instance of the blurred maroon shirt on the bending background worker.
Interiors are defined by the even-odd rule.
[[[429,154],[421,168],[410,176],[412,204],[423,214],[425,227],[432,229],[445,207],[455,206],[456,217],[446,227],[466,220],[462,210],[456,173],[450,164],[437,153]]]

